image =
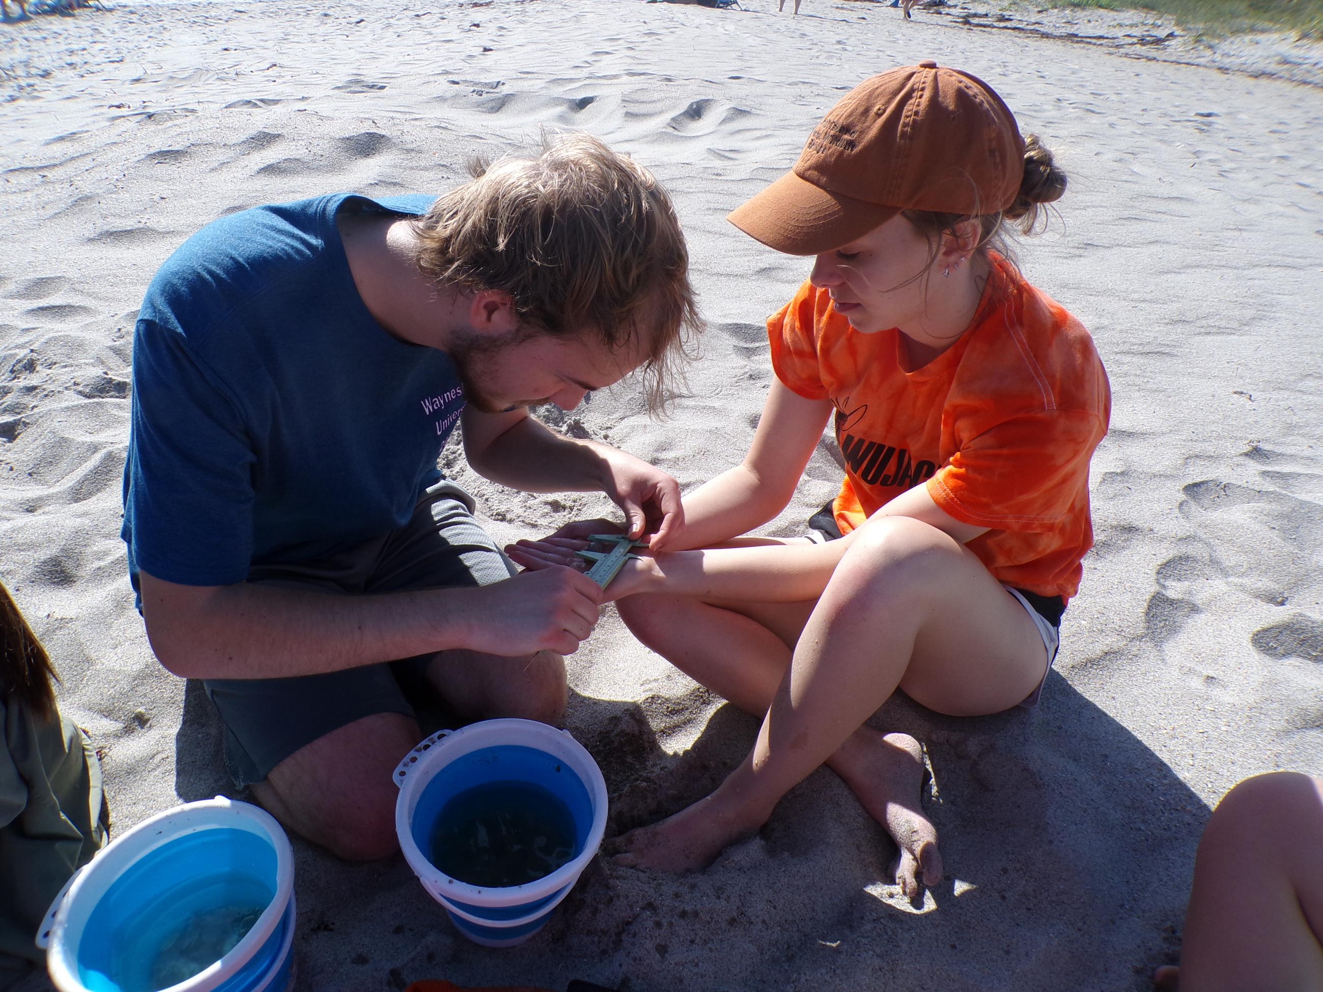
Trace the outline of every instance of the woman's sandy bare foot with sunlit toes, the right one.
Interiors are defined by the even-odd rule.
[[[893,868],[905,897],[918,898],[942,881],[937,828],[922,813],[923,749],[918,741],[860,727],[828,765],[900,848]]]

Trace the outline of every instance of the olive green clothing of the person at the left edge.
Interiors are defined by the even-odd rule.
[[[0,686],[3,689],[3,686]],[[45,958],[50,902],[106,841],[101,765],[69,720],[34,718],[0,692],[0,989]]]

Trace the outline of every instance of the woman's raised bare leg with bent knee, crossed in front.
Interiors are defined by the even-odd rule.
[[[757,636],[754,627],[759,624],[746,632]],[[749,653],[775,651],[775,638],[763,630],[767,636]],[[732,675],[737,667],[712,661],[713,652],[730,648],[729,639],[714,643],[706,671],[693,655],[677,664],[710,673],[722,694],[740,694]],[[1033,620],[968,549],[917,520],[881,517],[860,529],[814,606],[790,664],[782,652],[777,665],[755,668],[762,672],[761,692],[726,698],[757,712],[766,698],[766,673],[775,668],[782,676],[753,753],[710,796],[628,835],[626,848],[638,864],[701,868],[758,829],[781,798],[827,761],[840,766],[856,795],[868,794],[864,780],[871,776],[864,774],[856,787],[848,770],[865,767],[871,758],[861,755],[876,755],[878,747],[857,729],[897,686],[939,712],[995,713],[1032,692],[1046,652]],[[749,688],[755,688],[753,677]],[[885,809],[881,816],[872,807],[869,812],[890,829]]]

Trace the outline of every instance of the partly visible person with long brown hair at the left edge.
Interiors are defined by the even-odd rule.
[[[0,583],[0,989],[44,970],[34,940],[46,910],[106,843],[101,762],[60,713],[54,679]]]

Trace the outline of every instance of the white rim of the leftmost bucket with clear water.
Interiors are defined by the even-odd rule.
[[[196,825],[189,825],[187,829],[173,832],[157,829],[161,824],[177,817],[192,820],[201,817],[204,813],[214,815],[217,812],[222,816],[233,816],[235,817],[235,821],[198,823]],[[214,988],[234,977],[239,970],[247,964],[253,954],[262,947],[267,939],[270,939],[271,934],[279,926],[280,919],[284,915],[287,903],[294,898],[294,848],[290,845],[290,839],[280,828],[280,824],[277,823],[275,817],[265,809],[261,809],[251,803],[242,803],[234,799],[228,799],[226,796],[216,796],[214,799],[184,803],[183,806],[171,807],[169,809],[159,812],[155,816],[149,816],[136,827],[132,827],[115,837],[110,844],[97,852],[97,856],[83,866],[73,885],[69,886],[69,890],[58,897],[58,906],[52,907],[52,913],[48,913],[46,915],[48,921],[52,914],[54,915],[54,922],[50,925],[49,930],[44,931],[42,935],[49,939],[49,947],[46,950],[46,968],[50,972],[50,979],[54,981],[56,988],[58,988],[60,992],[86,992],[87,988],[78,977],[77,948],[69,947],[65,940],[65,931],[69,929],[71,922],[69,909],[75,906],[79,898],[90,898],[90,906],[95,906],[101,897],[110,890],[110,886],[112,886],[130,866],[147,857],[153,850],[157,850],[171,841],[189,833],[225,828],[243,829],[249,833],[261,833],[271,841],[271,847],[275,849],[275,895],[271,897],[271,902],[267,903],[265,910],[262,910],[262,915],[258,917],[253,927],[243,935],[243,939],[234,944],[234,947],[232,947],[224,958],[204,968],[197,975],[193,975],[193,977],[187,981],[169,985],[168,988],[161,989],[161,992],[202,992],[204,989]],[[149,835],[153,831],[159,836],[151,837]],[[124,858],[124,864],[116,865],[115,862],[118,858]],[[119,868],[119,870],[112,876],[103,877],[108,868]],[[101,874],[98,874],[98,872],[101,872]],[[78,922],[86,925],[86,919],[90,918],[90,915],[91,909],[87,909],[86,914],[79,914]]]

